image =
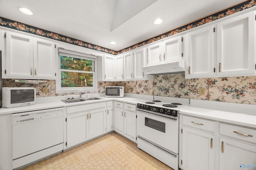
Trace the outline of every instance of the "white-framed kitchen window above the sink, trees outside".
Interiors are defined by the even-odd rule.
[[[95,90],[96,62],[96,56],[59,49],[56,92]]]

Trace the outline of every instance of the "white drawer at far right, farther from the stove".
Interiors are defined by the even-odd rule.
[[[220,135],[256,143],[256,130],[220,123]]]

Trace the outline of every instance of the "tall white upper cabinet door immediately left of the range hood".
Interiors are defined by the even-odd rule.
[[[134,54],[134,80],[143,80],[144,72],[142,67],[144,66],[144,48],[135,50]]]

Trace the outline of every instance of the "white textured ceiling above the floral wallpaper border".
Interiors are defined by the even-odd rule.
[[[0,0],[0,17],[119,51],[241,2],[244,0]],[[22,14],[18,6],[34,15]],[[157,18],[163,23],[154,25]]]

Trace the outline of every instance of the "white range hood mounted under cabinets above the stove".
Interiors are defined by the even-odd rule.
[[[144,66],[142,70],[146,74],[160,75],[160,74],[177,74],[185,72],[184,60],[173,61],[171,63],[163,63],[151,66]]]

